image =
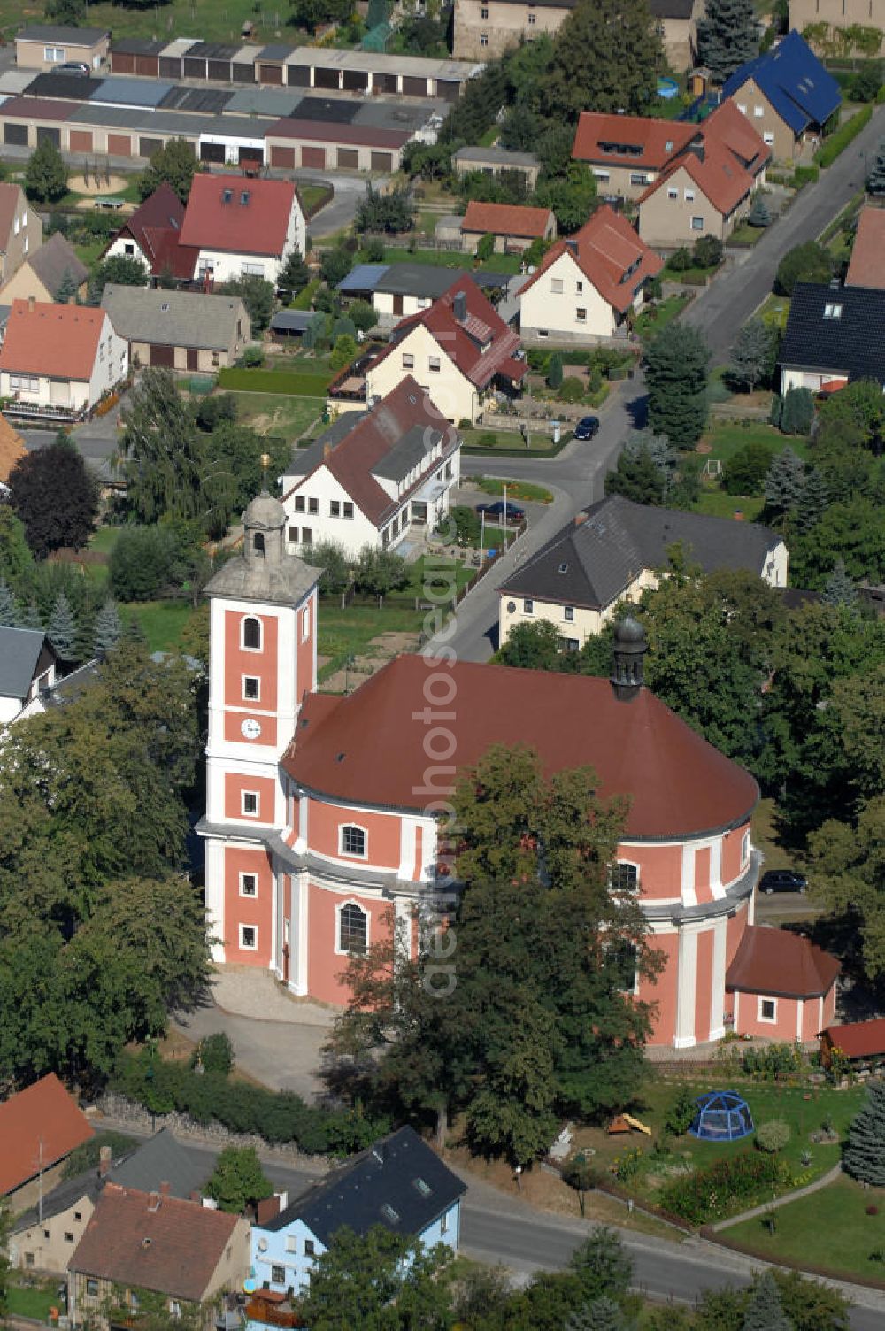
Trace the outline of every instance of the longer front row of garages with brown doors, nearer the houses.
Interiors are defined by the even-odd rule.
[[[3,144],[33,149],[51,141],[69,156],[149,158],[170,138],[184,138],[209,165],[294,170],[393,172],[411,130],[315,120],[260,121],[174,112],[79,105],[36,97],[0,104]]]

